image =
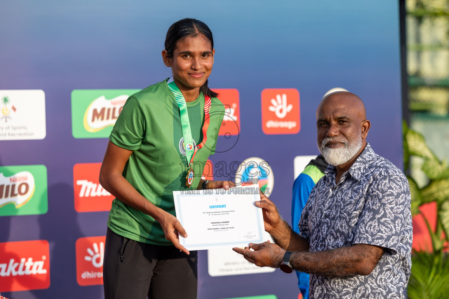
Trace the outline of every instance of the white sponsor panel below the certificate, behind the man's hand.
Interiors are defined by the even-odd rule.
[[[273,238],[264,232],[264,239],[274,242]],[[274,268],[258,267],[231,248],[216,248],[207,250],[207,272],[210,276],[229,276],[255,273],[271,273]]]

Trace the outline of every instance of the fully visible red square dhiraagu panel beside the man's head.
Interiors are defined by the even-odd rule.
[[[295,88],[266,88],[261,94],[265,134],[296,134],[301,129],[299,92]]]

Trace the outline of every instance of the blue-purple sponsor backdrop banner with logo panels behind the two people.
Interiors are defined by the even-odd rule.
[[[203,177],[258,184],[290,221],[293,179],[319,153],[317,105],[335,87],[364,100],[368,141],[402,167],[395,1],[23,0],[0,11],[0,292],[10,299],[103,297],[107,137],[129,95],[171,76],[161,51],[181,18],[210,26],[209,86],[225,104]],[[294,274],[199,251],[198,299],[298,294]]]

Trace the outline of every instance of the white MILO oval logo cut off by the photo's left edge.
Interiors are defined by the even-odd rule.
[[[0,173],[0,207],[13,203],[16,208],[20,208],[31,199],[34,191],[34,177],[29,171],[21,171],[10,177]]]

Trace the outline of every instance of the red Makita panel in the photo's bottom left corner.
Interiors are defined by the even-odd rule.
[[[46,240],[0,243],[0,292],[40,290],[49,286]]]

